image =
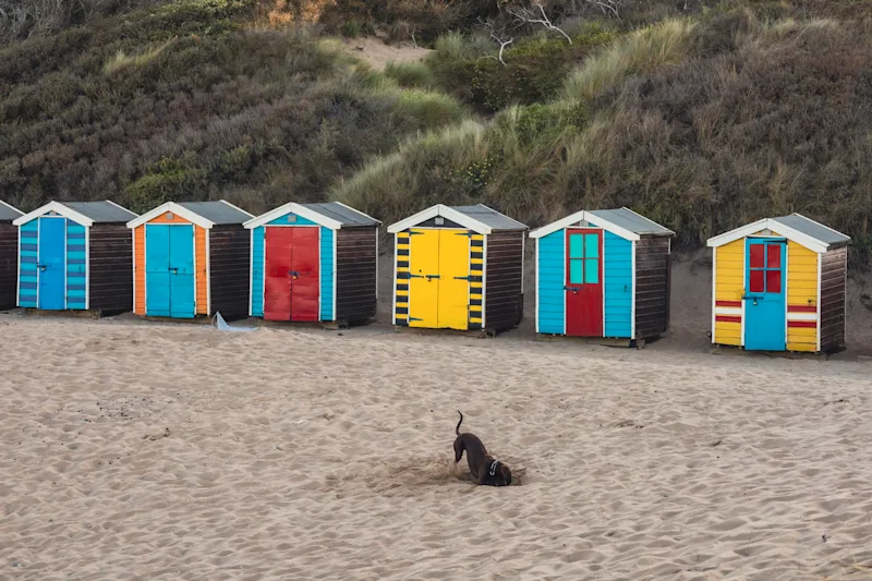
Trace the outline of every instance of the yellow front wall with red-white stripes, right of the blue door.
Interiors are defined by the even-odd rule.
[[[787,349],[818,350],[818,253],[787,241]]]

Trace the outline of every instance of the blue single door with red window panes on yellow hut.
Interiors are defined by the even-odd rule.
[[[744,348],[751,351],[787,349],[784,265],[787,244],[778,238],[749,238],[746,242]]]

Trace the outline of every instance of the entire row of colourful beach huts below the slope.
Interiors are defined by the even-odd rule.
[[[29,214],[0,202],[0,308],[364,324],[376,314],[379,226],[337,202],[258,217],[225,201],[142,216],[108,201]],[[640,344],[669,326],[675,233],[628,208],[581,210],[528,233],[486,206],[439,204],[388,232],[398,327],[517,326],[528,238],[537,334]],[[712,342],[843,348],[849,242],[797,214],[708,240]]]

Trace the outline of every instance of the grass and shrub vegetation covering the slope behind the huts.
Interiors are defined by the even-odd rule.
[[[0,197],[626,205],[685,247],[800,211],[869,264],[868,0],[550,0],[566,36],[522,2],[0,0]],[[377,71],[325,31],[433,50]]]

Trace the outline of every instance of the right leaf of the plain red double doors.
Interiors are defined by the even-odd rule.
[[[320,277],[318,228],[287,228],[293,231],[291,258],[291,320],[318,320]]]

